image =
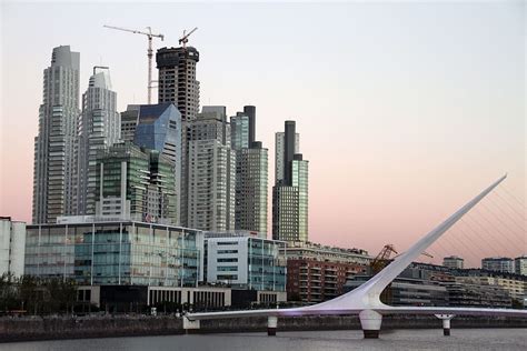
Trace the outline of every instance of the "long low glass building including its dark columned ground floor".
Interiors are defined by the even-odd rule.
[[[27,274],[73,279],[79,301],[101,308],[231,303],[229,289],[199,285],[203,274],[199,230],[136,221],[28,225],[26,252]]]

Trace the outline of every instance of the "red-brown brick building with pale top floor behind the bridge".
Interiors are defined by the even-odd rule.
[[[320,302],[345,292],[346,281],[366,273],[371,261],[360,249],[341,249],[310,242],[288,242],[288,299]]]

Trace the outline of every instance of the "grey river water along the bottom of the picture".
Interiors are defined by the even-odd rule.
[[[0,350],[527,350],[527,329],[441,329],[384,331],[364,340],[360,330],[230,333],[34,341],[0,344]]]

